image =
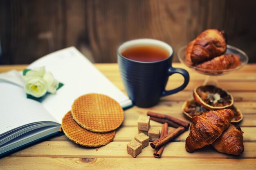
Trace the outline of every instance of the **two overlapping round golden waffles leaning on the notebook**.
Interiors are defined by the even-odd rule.
[[[124,111],[114,99],[103,94],[80,96],[62,119],[62,130],[75,142],[87,147],[111,142],[124,120]]]

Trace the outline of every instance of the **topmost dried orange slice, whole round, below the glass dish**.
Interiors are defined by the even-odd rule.
[[[195,88],[193,97],[196,102],[209,110],[225,109],[234,103],[234,98],[229,92],[214,85]]]

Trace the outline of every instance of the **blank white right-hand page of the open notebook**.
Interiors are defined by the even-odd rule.
[[[32,63],[29,68],[40,66],[45,66],[58,81],[64,83],[56,95],[48,95],[42,102],[58,122],[70,111],[74,100],[83,94],[105,94],[119,102],[122,107],[132,104],[123,92],[74,47],[48,54]]]

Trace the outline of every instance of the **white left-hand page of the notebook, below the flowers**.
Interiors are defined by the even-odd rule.
[[[56,122],[41,103],[26,98],[23,88],[0,81],[0,134],[41,121]]]

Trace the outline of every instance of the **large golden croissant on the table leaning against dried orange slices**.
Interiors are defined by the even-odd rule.
[[[193,152],[212,144],[228,128],[233,116],[231,109],[207,111],[200,116],[193,116],[189,136],[186,138],[186,150]]]

